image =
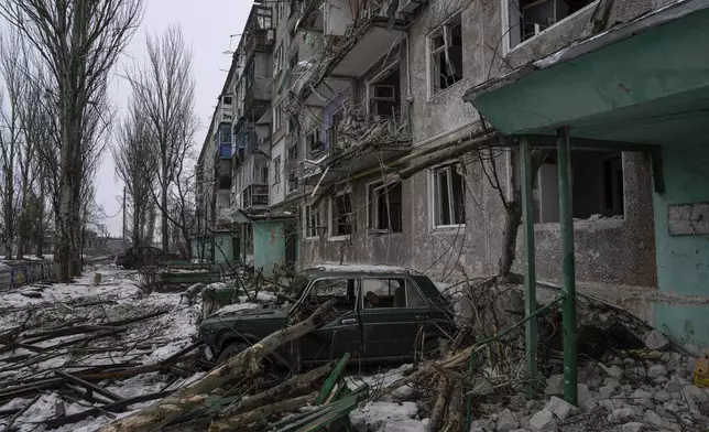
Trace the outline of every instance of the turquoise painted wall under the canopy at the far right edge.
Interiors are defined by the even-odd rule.
[[[666,192],[653,198],[659,291],[709,299],[709,236],[670,236],[667,226],[668,205],[709,202],[709,147],[666,147],[663,168]],[[656,302],[653,318],[663,332],[709,345],[709,305]]]

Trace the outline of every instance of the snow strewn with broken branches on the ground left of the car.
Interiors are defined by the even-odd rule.
[[[166,311],[166,313],[124,325],[124,332],[117,336],[87,342],[83,349],[76,349],[78,344],[74,344],[66,348],[48,349],[46,353],[33,353],[24,348],[0,353],[0,389],[11,386],[19,379],[53,377],[55,369],[72,372],[92,365],[123,361],[155,365],[187,347],[196,338],[200,304],[182,305],[178,293],[146,294],[138,287],[135,272],[110,267],[98,267],[96,272],[102,276],[99,285],[94,285],[95,272],[87,272],[73,283],[30,284],[0,293],[0,333],[23,323],[32,325],[32,332],[46,332],[66,325],[68,322],[80,321],[77,325],[106,325],[153,312]],[[22,295],[23,292],[31,291],[40,293],[40,296]],[[102,303],[83,305],[97,301]],[[58,344],[76,342],[85,337],[86,334],[61,336],[34,345],[52,348]],[[17,360],[19,356],[28,355],[31,356],[32,361]],[[13,360],[12,357],[15,359]],[[174,376],[171,377],[167,374],[150,372],[110,382],[102,381],[98,385],[129,398],[168,388],[175,389],[201,376],[204,372],[174,379]],[[33,398],[34,396],[31,396],[0,402],[0,411],[23,409],[33,401]],[[153,402],[133,404],[130,409],[138,410],[151,403]],[[70,400],[55,390],[47,390],[40,393],[39,399],[15,419],[13,425],[21,432],[41,430],[44,421],[57,415],[59,412],[57,410],[72,414],[90,408],[92,406],[80,398]],[[130,412],[120,413],[118,417],[128,414]],[[92,432],[110,420],[105,415],[89,418],[75,424],[64,425],[56,431]],[[0,430],[7,426],[8,421],[8,417],[0,419]]]

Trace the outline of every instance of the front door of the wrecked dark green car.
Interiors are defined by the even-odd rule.
[[[305,314],[318,305],[336,299],[335,310],[328,322],[303,336],[299,341],[299,356],[304,361],[329,361],[350,353],[357,358],[362,352],[362,333],[357,314],[359,280],[356,278],[315,279],[302,298],[301,307]]]

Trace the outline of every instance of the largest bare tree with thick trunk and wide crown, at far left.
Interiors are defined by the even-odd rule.
[[[142,12],[142,0],[0,0],[0,13],[44,60],[59,130],[59,184],[55,261],[59,280],[77,273],[81,145],[85,115],[126,47]],[[56,90],[54,90],[56,89]]]

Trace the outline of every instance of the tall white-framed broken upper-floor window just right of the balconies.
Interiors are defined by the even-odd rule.
[[[460,15],[428,37],[430,93],[444,90],[462,79],[462,32]]]

